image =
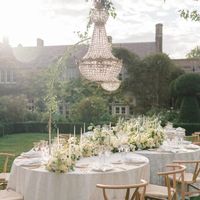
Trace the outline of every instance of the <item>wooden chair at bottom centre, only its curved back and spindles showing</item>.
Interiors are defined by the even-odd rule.
[[[126,190],[125,200],[144,200],[145,190],[147,186],[147,181],[141,180],[139,184],[133,185],[102,185],[97,184],[96,187],[101,188],[103,190],[104,200],[109,200],[106,194],[106,190]],[[130,197],[131,189],[133,189],[132,195]]]

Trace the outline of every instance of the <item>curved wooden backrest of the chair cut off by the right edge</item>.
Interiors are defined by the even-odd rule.
[[[173,163],[193,165],[194,166],[194,172],[193,172],[192,181],[194,183],[196,182],[196,179],[200,174],[200,160],[175,160],[175,161],[173,161]]]

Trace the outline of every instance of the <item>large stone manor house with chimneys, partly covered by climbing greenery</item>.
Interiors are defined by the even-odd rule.
[[[126,48],[137,54],[141,58],[154,53],[163,52],[163,25],[156,24],[155,40],[152,42],[140,43],[114,43],[113,47]],[[53,61],[62,56],[70,45],[44,46],[42,39],[37,39],[37,46],[10,47],[7,39],[0,43],[0,90],[1,88],[9,89],[8,93],[15,91],[21,83],[21,76],[24,73],[34,73],[34,71],[48,67]],[[69,59],[69,67],[66,69],[64,77],[67,80],[80,77],[77,61],[87,52],[87,45],[80,45]],[[186,72],[200,72],[199,59],[174,59],[174,63],[184,69]],[[124,77],[124,70],[121,72],[121,78]],[[6,91],[6,90],[5,90]],[[66,113],[66,103],[60,106],[60,112]],[[30,110],[34,110],[34,99],[30,98],[28,104]],[[114,115],[129,115],[131,109],[128,105],[115,102],[111,105],[111,112]]]

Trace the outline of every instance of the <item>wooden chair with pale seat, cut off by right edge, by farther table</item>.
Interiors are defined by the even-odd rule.
[[[200,182],[200,160],[176,160],[173,161],[173,163],[181,164],[181,165],[188,165],[188,167],[193,167],[194,171],[193,173],[185,172],[184,175],[184,191],[185,196],[191,196],[193,194],[200,194],[200,188],[196,187],[195,184]],[[180,183],[180,180],[176,180],[178,183]],[[190,187],[195,189],[195,191],[190,191]]]

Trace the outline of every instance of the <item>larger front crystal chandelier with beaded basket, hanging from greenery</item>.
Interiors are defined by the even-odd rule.
[[[105,24],[108,12],[103,8],[101,0],[95,0],[95,8],[91,10],[91,21],[94,31],[88,52],[79,64],[81,74],[90,81],[106,82],[116,78],[122,68],[121,60],[111,53],[106,35]]]

